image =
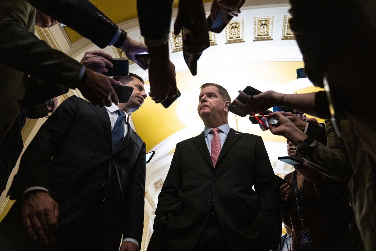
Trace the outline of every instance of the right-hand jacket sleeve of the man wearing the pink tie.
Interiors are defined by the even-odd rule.
[[[255,224],[260,229],[260,237],[268,248],[275,249],[281,236],[281,206],[279,186],[262,138],[258,136],[255,153],[254,187],[259,196],[259,211]]]

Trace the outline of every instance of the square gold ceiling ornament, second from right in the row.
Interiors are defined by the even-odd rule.
[[[273,40],[274,16],[253,18],[253,41]]]

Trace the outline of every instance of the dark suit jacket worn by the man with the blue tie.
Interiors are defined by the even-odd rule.
[[[128,126],[112,149],[106,108],[72,96],[52,114],[24,152],[9,194],[41,186],[59,204],[59,225],[79,216],[106,180],[104,239],[117,250],[124,237],[141,243],[144,220],[146,147]],[[18,212],[20,213],[20,212]]]

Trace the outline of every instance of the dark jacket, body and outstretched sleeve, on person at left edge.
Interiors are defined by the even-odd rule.
[[[35,11],[23,0],[0,1],[0,141],[17,117],[28,75],[75,88],[85,71],[35,36]]]

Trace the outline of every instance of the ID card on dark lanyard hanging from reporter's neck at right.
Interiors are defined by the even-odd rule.
[[[294,186],[296,210],[298,212],[299,220],[302,224],[302,229],[297,231],[297,237],[299,240],[300,248],[302,248],[302,251],[312,250],[311,235],[309,234],[308,228],[303,227],[304,217],[303,217],[303,210],[302,210],[303,209],[302,202],[303,202],[303,189],[304,189],[305,181],[306,179],[304,178],[302,186],[300,187],[300,190],[298,190],[296,170],[295,170],[293,186]]]

